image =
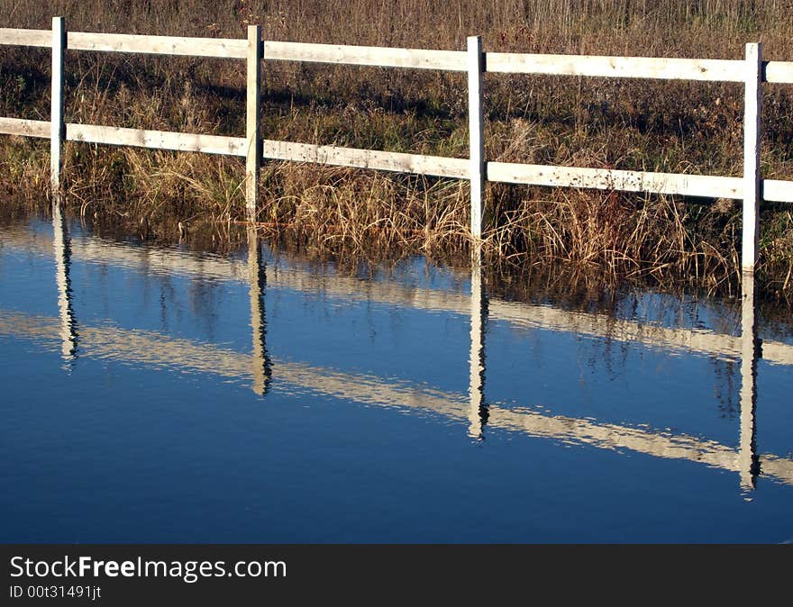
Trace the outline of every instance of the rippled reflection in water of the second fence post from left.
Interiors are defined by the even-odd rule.
[[[251,330],[253,331],[253,392],[265,394],[272,376],[267,353],[267,322],[264,315],[264,289],[267,285],[266,263],[256,228],[248,226],[248,279],[251,285]]]

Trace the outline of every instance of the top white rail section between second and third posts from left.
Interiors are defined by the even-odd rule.
[[[461,50],[387,49],[304,42],[265,41],[264,59],[460,72],[467,69],[466,53]]]

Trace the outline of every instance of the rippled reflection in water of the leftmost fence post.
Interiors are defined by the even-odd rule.
[[[58,311],[60,318],[60,356],[71,363],[77,358],[77,321],[71,301],[71,241],[60,198],[52,201],[52,248],[55,254],[55,283],[58,285]]]

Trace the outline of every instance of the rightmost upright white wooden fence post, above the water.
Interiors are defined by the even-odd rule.
[[[746,45],[743,67],[743,247],[741,267],[753,270],[757,263],[760,214],[760,118],[762,45]]]

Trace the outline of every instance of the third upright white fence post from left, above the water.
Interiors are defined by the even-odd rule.
[[[468,116],[470,144],[471,236],[482,236],[482,203],[485,189],[485,121],[482,113],[482,37],[468,38]]]

